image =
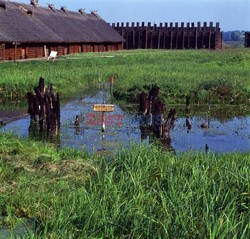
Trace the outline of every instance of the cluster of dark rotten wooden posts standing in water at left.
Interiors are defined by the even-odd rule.
[[[60,129],[60,97],[52,85],[45,86],[43,77],[33,92],[27,92],[30,130],[57,135]]]

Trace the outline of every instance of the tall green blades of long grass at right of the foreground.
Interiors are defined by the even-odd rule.
[[[79,195],[75,236],[246,238],[249,163],[249,155],[174,156],[154,146],[121,152]]]

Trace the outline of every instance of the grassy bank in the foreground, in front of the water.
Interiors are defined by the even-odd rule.
[[[0,216],[35,217],[31,238],[247,238],[249,155],[110,158],[0,135]]]

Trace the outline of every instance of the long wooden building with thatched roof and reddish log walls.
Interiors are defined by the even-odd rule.
[[[96,12],[0,0],[0,61],[122,49],[124,39]]]

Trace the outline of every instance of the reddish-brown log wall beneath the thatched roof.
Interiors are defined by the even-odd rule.
[[[81,52],[105,52],[122,50],[122,43],[72,43],[72,44],[1,44],[0,61],[20,60],[45,57],[51,51],[57,51],[58,55],[75,54]]]

